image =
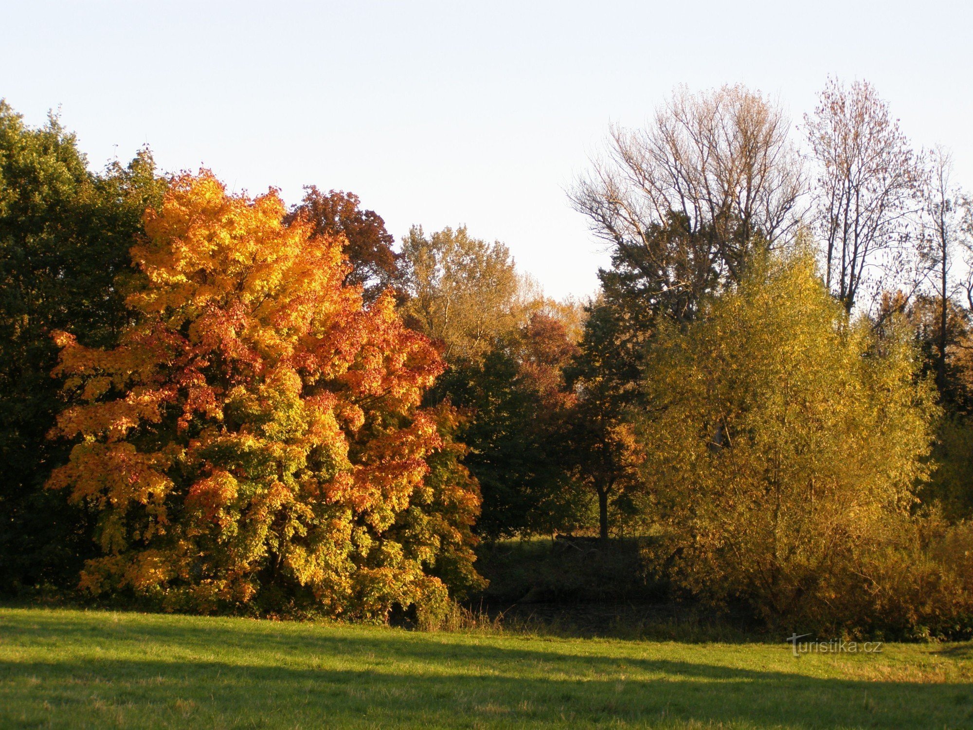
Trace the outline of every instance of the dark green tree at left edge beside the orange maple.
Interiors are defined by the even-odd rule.
[[[147,150],[88,169],[74,135],[28,128],[0,100],[0,591],[65,588],[90,553],[90,515],[43,489],[67,457],[46,440],[59,384],[55,329],[91,346],[126,322],[116,284],[164,181]]]

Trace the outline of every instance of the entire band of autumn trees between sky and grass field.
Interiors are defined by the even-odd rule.
[[[564,303],[465,228],[397,246],[354,195],[147,151],[92,173],[3,106],[2,590],[434,623],[480,541],[567,533],[770,623],[965,636],[951,171],[865,83],[798,136],[760,93],[676,91],[570,192],[612,258]]]

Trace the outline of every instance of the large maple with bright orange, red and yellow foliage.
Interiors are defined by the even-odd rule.
[[[83,589],[383,618],[481,581],[455,414],[418,407],[442,360],[390,294],[366,307],[342,283],[343,237],[284,214],[272,191],[176,178],[131,250],[119,346],[55,335],[54,435],[76,444],[49,486],[99,514]]]

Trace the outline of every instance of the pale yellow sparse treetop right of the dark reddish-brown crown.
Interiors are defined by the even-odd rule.
[[[471,237],[465,226],[429,237],[414,227],[402,256],[410,324],[443,343],[447,361],[482,358],[523,325],[527,282],[500,241]]]

